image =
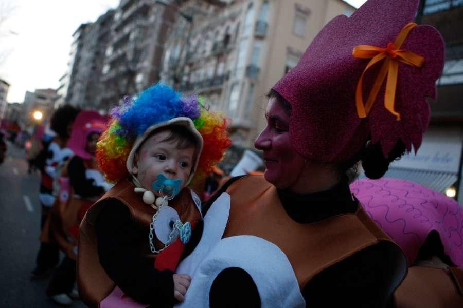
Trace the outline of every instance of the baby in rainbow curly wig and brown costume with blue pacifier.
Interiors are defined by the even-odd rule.
[[[81,224],[79,293],[92,307],[173,306],[189,285],[174,270],[202,219],[200,200],[186,187],[222,159],[231,143],[227,122],[160,84],[111,115],[97,160],[117,184]]]

